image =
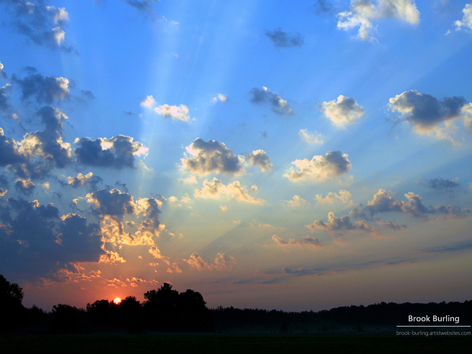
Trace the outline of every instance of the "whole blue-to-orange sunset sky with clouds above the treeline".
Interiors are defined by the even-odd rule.
[[[470,0],[0,8],[0,274],[26,306],[470,299]]]

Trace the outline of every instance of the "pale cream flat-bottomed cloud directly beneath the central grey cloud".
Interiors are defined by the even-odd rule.
[[[254,186],[253,186],[254,187]],[[257,186],[255,188],[251,187],[251,191],[257,190]],[[195,188],[194,196],[197,198],[216,198],[219,199],[222,196],[225,196],[230,199],[236,199],[242,202],[249,202],[254,204],[263,204],[265,201],[263,199],[257,199],[253,196],[248,194],[247,187],[241,185],[239,181],[235,181],[228,185],[224,185],[221,181],[213,177],[213,180],[203,181],[203,188],[198,189]]]

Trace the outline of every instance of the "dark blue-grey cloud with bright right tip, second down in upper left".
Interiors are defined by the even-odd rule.
[[[65,77],[32,74],[20,79],[13,74],[12,81],[19,85],[22,100],[35,97],[38,103],[51,104],[53,101],[60,101],[70,96],[69,80]]]

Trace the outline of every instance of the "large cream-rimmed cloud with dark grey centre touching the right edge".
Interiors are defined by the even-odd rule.
[[[418,134],[451,140],[447,135],[451,122],[463,118],[464,125],[469,126],[469,120],[472,119],[472,103],[468,103],[464,97],[448,96],[439,101],[430,94],[411,90],[396,95],[389,101],[390,110],[400,113]],[[444,126],[440,127],[441,124]]]

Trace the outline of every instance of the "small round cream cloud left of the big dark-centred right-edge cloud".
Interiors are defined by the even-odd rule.
[[[339,95],[337,101],[321,103],[321,111],[338,128],[346,129],[346,124],[354,124],[364,115],[364,109],[354,98]]]

